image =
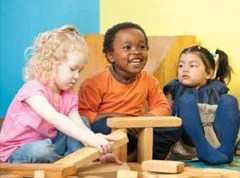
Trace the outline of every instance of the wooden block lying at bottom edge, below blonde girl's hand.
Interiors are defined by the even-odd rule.
[[[100,176],[113,178],[116,177],[118,170],[130,170],[129,166],[126,163],[122,165],[117,165],[115,163],[100,163],[100,162],[92,162],[86,166],[83,166],[78,169],[78,176]]]

